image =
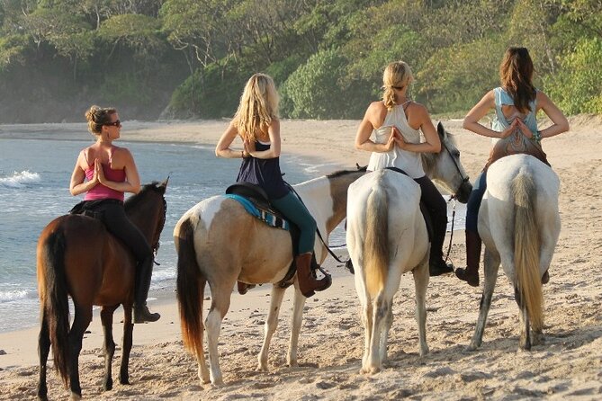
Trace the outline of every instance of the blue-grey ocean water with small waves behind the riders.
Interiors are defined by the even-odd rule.
[[[85,135],[83,132],[82,137]],[[38,236],[53,218],[67,213],[83,198],[71,196],[68,185],[79,150],[90,144],[85,140],[0,139],[0,333],[38,325]],[[175,288],[175,223],[197,202],[223,193],[236,179],[239,161],[215,157],[213,147],[127,141],[117,145],[128,147],[134,155],[142,183],[170,177],[152,296],[153,290]],[[281,158],[281,168],[292,184],[337,169],[290,154]],[[461,205],[455,230],[463,229],[463,217]],[[345,245],[342,226],[331,234],[330,245]]]

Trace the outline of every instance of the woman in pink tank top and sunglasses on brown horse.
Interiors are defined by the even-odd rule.
[[[121,121],[115,109],[92,106],[85,111],[85,119],[96,141],[79,152],[71,174],[71,194],[85,193],[84,201],[72,212],[76,209],[93,210],[103,220],[107,230],[130,248],[137,262],[134,323],[155,322],[159,314],[150,313],[147,307],[153,253],[123,207],[124,192],[140,191],[138,169],[127,148],[112,144],[113,140],[120,138],[121,130]]]

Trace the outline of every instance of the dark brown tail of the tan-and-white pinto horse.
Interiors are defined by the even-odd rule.
[[[202,356],[202,299],[207,279],[196,262],[194,227],[190,218],[180,224],[177,241],[177,301],[184,347]]]

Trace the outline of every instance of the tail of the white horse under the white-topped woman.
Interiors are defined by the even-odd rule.
[[[384,288],[389,266],[388,203],[387,192],[377,186],[368,196],[366,205],[364,270],[366,287],[372,298]]]

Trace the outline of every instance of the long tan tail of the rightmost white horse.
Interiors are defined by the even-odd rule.
[[[531,174],[518,174],[512,182],[515,200],[515,269],[521,302],[534,328],[544,325],[544,296],[539,275],[540,239],[535,220],[536,188]]]

